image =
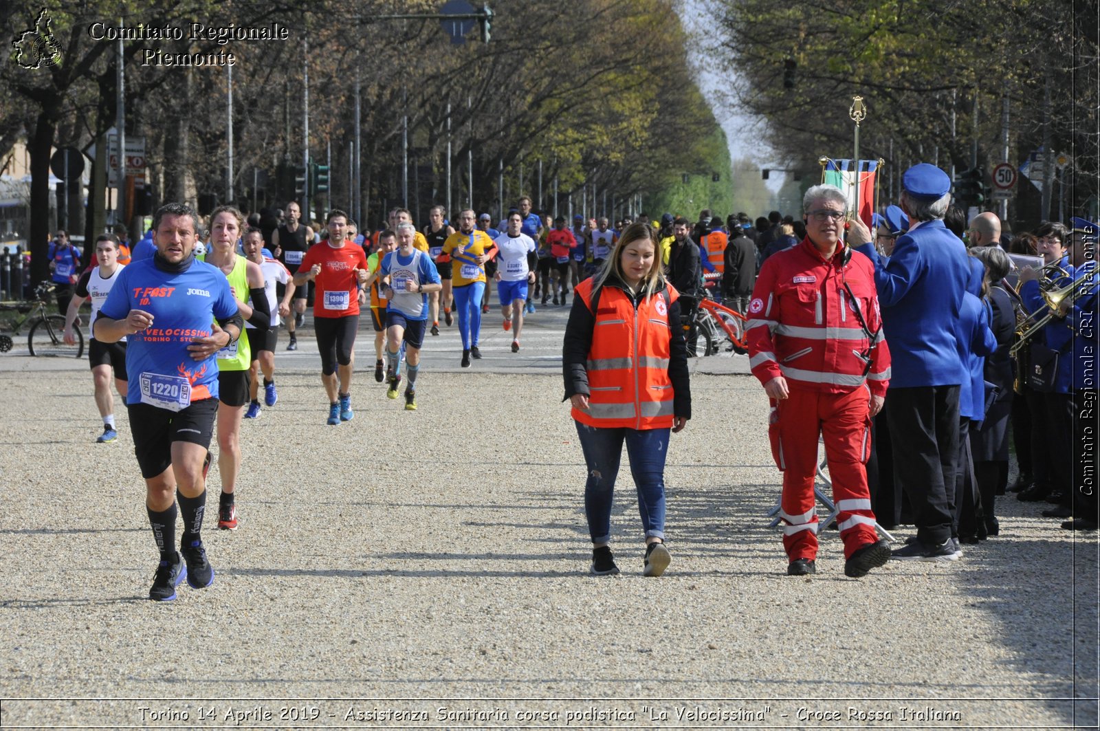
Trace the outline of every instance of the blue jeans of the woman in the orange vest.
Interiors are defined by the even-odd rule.
[[[647,537],[664,539],[664,457],[671,429],[598,428],[574,422],[584,450],[588,480],[584,483],[584,514],[592,543],[612,538],[612,493],[618,477],[623,443],[638,489],[638,512]]]

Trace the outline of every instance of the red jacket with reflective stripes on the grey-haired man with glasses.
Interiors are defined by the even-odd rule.
[[[848,393],[866,384],[886,395],[890,350],[875,266],[858,251],[838,244],[826,261],[807,238],[769,257],[748,318],[749,366],[760,383],[782,375],[791,389]]]

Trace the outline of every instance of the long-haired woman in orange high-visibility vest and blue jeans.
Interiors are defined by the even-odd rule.
[[[671,560],[664,459],[670,432],[691,418],[691,390],[679,294],[664,281],[657,236],[647,223],[628,226],[596,275],[576,285],[565,326],[565,399],[588,470],[584,512],[598,576],[618,574],[608,544],[624,443],[646,532],[642,574],[660,576]]]

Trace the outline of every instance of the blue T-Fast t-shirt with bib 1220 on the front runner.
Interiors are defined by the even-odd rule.
[[[191,401],[218,397],[217,354],[195,360],[187,346],[208,337],[216,318],[235,315],[237,301],[217,266],[193,260],[174,273],[155,262],[132,261],[123,269],[99,313],[118,320],[131,309],[153,316],[150,327],[127,338],[127,403],[179,411]]]

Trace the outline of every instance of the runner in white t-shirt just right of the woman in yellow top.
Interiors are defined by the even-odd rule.
[[[267,295],[267,306],[272,313],[271,327],[266,330],[257,329],[252,323],[244,324],[244,331],[248,332],[249,346],[252,349],[252,363],[249,367],[249,411],[244,418],[256,418],[260,416],[260,381],[256,378],[257,371],[264,372],[264,403],[274,406],[278,401],[278,392],[275,390],[275,346],[278,342],[278,318],[290,316],[290,304],[296,287],[294,277],[283,262],[277,259],[268,259],[263,254],[264,234],[257,228],[250,228],[244,232],[244,255],[249,261],[260,264],[260,271],[264,274],[264,293]],[[275,287],[282,284],[285,290],[283,298],[275,303]]]

